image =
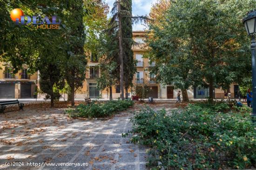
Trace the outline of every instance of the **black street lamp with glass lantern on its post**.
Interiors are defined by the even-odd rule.
[[[256,122],[256,9],[249,12],[243,19],[243,24],[251,40],[252,65],[252,121]]]

